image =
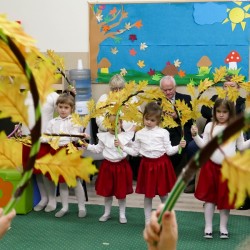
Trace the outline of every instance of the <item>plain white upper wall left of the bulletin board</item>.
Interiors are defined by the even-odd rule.
[[[87,0],[0,0],[0,13],[20,20],[42,52],[88,52]]]

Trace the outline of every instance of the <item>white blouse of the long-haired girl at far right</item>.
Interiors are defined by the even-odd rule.
[[[203,148],[207,143],[211,140],[212,137],[215,137],[220,132],[222,132],[226,125],[215,125],[211,137],[211,129],[212,129],[212,122],[208,123],[204,129],[203,138],[201,138],[199,135],[196,135],[194,137],[194,141],[197,144],[199,148]],[[220,146],[225,156],[234,156],[236,153],[236,149],[243,150],[250,147],[250,140],[244,141],[243,133],[241,132],[240,136],[234,140],[229,141],[223,145]],[[216,149],[212,156],[210,157],[211,161],[213,161],[216,164],[222,164],[225,156],[220,149]]]

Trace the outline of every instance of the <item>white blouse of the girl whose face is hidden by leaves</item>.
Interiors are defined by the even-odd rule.
[[[115,135],[109,132],[102,132],[98,133],[97,137],[99,139],[98,144],[88,144],[87,150],[97,154],[102,152],[103,157],[111,162],[118,162],[126,158],[127,154],[123,150],[119,152],[114,145]],[[133,137],[134,132],[132,131],[118,134],[118,140],[123,146],[131,144]]]

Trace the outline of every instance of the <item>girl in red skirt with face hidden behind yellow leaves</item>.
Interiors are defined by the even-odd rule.
[[[108,132],[97,134],[99,142],[97,145],[86,144],[87,150],[94,153],[103,153],[104,160],[100,166],[97,176],[95,189],[98,195],[104,196],[105,211],[99,218],[100,222],[106,222],[111,218],[110,211],[113,201],[113,196],[118,199],[119,204],[119,221],[121,224],[127,223],[126,195],[133,193],[132,186],[132,170],[126,159],[127,154],[119,152],[114,145],[115,131],[114,122],[115,116],[109,118],[112,128]],[[121,145],[125,146],[131,143],[134,136],[133,128],[131,131],[121,132],[122,123],[119,123],[118,138]]]

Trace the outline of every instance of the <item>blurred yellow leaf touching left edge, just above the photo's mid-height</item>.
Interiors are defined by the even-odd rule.
[[[28,125],[28,111],[24,105],[26,92],[20,92],[20,84],[0,84],[1,114],[0,117],[11,116],[12,122]]]

